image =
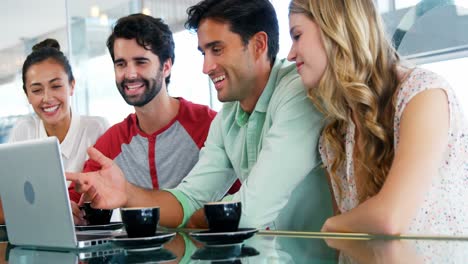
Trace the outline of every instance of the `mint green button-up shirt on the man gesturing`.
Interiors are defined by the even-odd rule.
[[[323,117],[295,65],[277,59],[253,112],[223,105],[192,171],[171,192],[185,225],[204,203],[242,202],[240,227],[319,231],[332,215],[318,139]],[[224,197],[239,178],[240,190]]]

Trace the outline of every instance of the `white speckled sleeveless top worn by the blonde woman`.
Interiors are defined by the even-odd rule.
[[[428,89],[443,89],[448,97],[450,125],[449,142],[444,160],[439,166],[438,177],[433,178],[432,186],[425,195],[424,203],[410,225],[409,234],[468,234],[468,124],[463,116],[455,93],[450,85],[437,74],[416,68],[401,85],[397,94],[394,118],[395,148],[400,139],[400,120],[406,105],[420,92]],[[332,188],[338,208],[346,212],[359,203],[354,177],[353,147],[355,125],[350,122],[346,133],[346,161],[338,169],[339,182],[332,179]],[[332,150],[320,138],[319,151],[322,161],[329,169]],[[341,187],[341,198],[338,195]]]

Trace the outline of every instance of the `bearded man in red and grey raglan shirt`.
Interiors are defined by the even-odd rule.
[[[119,19],[107,48],[117,88],[135,113],[107,130],[94,147],[112,159],[131,184],[144,189],[173,188],[198,161],[216,112],[168,95],[174,41],[161,19],[143,14]],[[100,169],[99,163],[88,160],[83,171]],[[237,185],[231,192],[236,189]],[[69,193],[75,222],[83,223],[76,204],[81,195],[73,186]]]

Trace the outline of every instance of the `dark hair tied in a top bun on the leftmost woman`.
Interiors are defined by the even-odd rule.
[[[33,46],[31,54],[28,55],[23,63],[23,90],[26,94],[28,93],[26,90],[26,73],[29,67],[48,59],[52,59],[63,66],[63,69],[68,75],[69,82],[75,80],[70,62],[63,52],[60,51],[60,44],[58,41],[55,39],[46,39]]]

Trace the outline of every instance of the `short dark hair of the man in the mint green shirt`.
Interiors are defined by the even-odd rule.
[[[230,25],[244,45],[258,32],[268,35],[268,58],[273,64],[279,51],[279,26],[275,8],[269,0],[204,0],[187,9],[185,28],[193,31],[203,19]]]

